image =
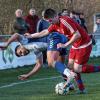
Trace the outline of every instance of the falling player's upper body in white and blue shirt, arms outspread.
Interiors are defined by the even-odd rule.
[[[2,50],[5,50],[14,41],[19,42],[19,45],[15,48],[15,55],[17,57],[28,55],[32,51],[36,55],[36,64],[34,68],[32,69],[32,71],[30,71],[28,74],[24,74],[20,76],[20,79],[24,80],[30,77],[31,75],[35,74],[36,72],[38,72],[38,70],[43,65],[42,51],[47,50],[47,41],[43,41],[43,39],[42,40],[41,39],[28,39],[28,38],[25,38],[25,36],[23,35],[15,33],[14,35],[12,35],[11,38],[8,39],[8,41],[3,46],[0,46],[0,48]]]

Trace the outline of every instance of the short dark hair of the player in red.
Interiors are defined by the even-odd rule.
[[[57,12],[54,9],[48,8],[44,11],[44,18],[53,18],[57,15]]]

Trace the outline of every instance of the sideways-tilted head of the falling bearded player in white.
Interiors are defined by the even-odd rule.
[[[26,56],[29,53],[30,53],[30,51],[28,49],[26,49],[24,46],[18,45],[15,48],[15,54],[17,57]]]

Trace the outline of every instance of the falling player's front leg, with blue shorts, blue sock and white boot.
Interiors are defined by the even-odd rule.
[[[52,33],[49,40],[49,46],[47,49],[48,64],[53,66],[53,68],[55,68],[61,75],[63,75],[67,81],[66,84],[69,84],[73,79],[72,76],[70,76],[72,74],[70,73],[70,69],[68,69],[64,63],[58,60],[58,57],[61,53],[61,48],[57,48],[58,43],[66,43],[66,37],[54,32]]]

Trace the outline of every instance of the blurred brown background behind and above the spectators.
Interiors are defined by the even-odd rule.
[[[0,34],[11,34],[16,9],[22,9],[26,15],[32,7],[40,17],[46,8],[54,8],[59,12],[64,8],[83,12],[88,30],[92,32],[93,15],[100,13],[100,0],[0,0]]]

